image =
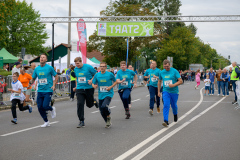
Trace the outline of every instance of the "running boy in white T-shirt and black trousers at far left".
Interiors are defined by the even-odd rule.
[[[16,105],[18,105],[18,108],[20,111],[29,110],[29,113],[32,113],[32,107],[27,105],[23,106],[23,101],[25,99],[24,94],[22,93],[22,83],[18,80],[19,74],[18,72],[13,73],[12,75],[12,88],[8,88],[8,91],[10,91],[11,97],[10,101],[12,102],[12,116],[13,120],[11,120],[12,123],[17,124],[17,112],[16,112]]]

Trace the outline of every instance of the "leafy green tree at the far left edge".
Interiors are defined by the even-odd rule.
[[[11,2],[11,3],[10,3]],[[40,23],[40,14],[24,0],[4,0],[1,2],[5,6],[7,17],[0,23],[4,32],[4,39],[0,39],[1,47],[5,47],[13,55],[18,55],[21,48],[26,48],[26,54],[39,55],[46,52],[43,44],[48,35],[45,31],[45,24]],[[0,14],[4,14],[0,11]]]

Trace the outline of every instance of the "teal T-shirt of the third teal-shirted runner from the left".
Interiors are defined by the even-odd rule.
[[[106,71],[104,74],[98,72],[93,78],[93,84],[98,84],[98,99],[102,100],[106,97],[113,97],[113,88],[110,91],[106,87],[110,87],[116,78],[113,73]]]

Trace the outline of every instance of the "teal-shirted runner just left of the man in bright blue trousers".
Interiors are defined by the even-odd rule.
[[[149,78],[149,93],[150,93],[150,101],[149,101],[149,114],[153,115],[154,101],[156,97],[157,102],[157,112],[160,113],[160,96],[158,96],[158,77],[161,72],[160,69],[157,68],[157,63],[152,61],[152,69],[147,70],[144,74],[144,78]]]

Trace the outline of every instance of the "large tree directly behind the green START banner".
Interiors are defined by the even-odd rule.
[[[143,7],[140,1],[126,1],[119,0],[109,3],[106,10],[101,11],[103,16],[144,16],[144,15],[156,15],[154,12],[150,12],[149,8]],[[153,10],[152,10],[153,11]],[[159,41],[162,40],[162,27],[154,24],[154,36],[152,37],[130,37],[129,38],[129,62],[134,63],[136,57],[140,56],[141,48],[143,47],[159,47]],[[106,61],[110,66],[119,65],[119,62],[126,59],[127,51],[127,38],[126,37],[98,37],[96,32],[89,37],[88,51],[99,50],[105,56]],[[149,53],[149,52],[145,52]]]

